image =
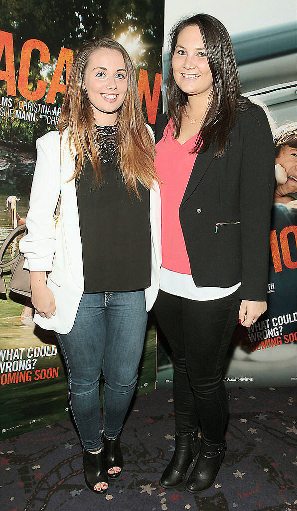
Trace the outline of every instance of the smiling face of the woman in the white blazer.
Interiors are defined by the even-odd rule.
[[[94,50],[85,68],[83,89],[91,103],[95,123],[114,124],[128,90],[123,56],[117,50]]]

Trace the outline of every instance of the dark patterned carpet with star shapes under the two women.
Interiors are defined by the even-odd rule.
[[[105,496],[84,483],[70,421],[0,444],[1,511],[296,511],[293,388],[232,389],[227,454],[214,486],[200,496],[164,490],[159,477],[174,450],[169,390],[136,399],[122,433],[125,467]]]

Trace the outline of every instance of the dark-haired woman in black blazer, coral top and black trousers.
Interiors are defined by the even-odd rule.
[[[197,14],[170,33],[167,112],[156,124],[162,268],[155,313],[172,348],[176,449],[160,484],[210,487],[226,451],[222,365],[239,322],[266,310],[274,145],[263,109],[240,96],[232,43]],[[197,430],[201,427],[201,447]]]

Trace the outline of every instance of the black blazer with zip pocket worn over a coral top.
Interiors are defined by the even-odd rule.
[[[159,115],[156,143],[166,125]],[[251,103],[238,113],[225,154],[215,153],[211,145],[197,154],[180,205],[193,280],[199,287],[241,281],[241,299],[265,301],[275,151],[264,110]]]

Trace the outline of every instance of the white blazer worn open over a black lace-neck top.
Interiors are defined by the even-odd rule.
[[[151,131],[151,128],[148,126]],[[19,242],[25,259],[24,268],[47,271],[47,286],[56,300],[56,315],[43,318],[35,314],[33,321],[45,330],[60,334],[70,332],[84,291],[82,242],[75,179],[75,148],[72,155],[65,130],[61,145],[58,131],[46,133],[36,142],[37,161],[32,182],[30,208],[26,219],[28,234]],[[53,214],[61,191],[61,209],[55,229]],[[161,198],[159,184],[150,192],[152,242],[151,286],[145,289],[146,310],[156,300],[161,256]]]

